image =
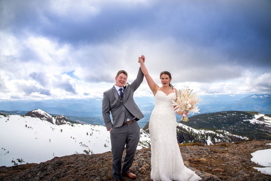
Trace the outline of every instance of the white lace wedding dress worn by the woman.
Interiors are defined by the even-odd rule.
[[[185,167],[177,142],[176,115],[172,100],[158,90],[154,96],[155,107],[150,117],[151,179],[157,180],[201,180],[194,171]]]

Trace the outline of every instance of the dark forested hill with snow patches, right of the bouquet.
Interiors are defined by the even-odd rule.
[[[194,128],[226,130],[250,139],[271,139],[271,116],[249,111],[222,111],[195,115],[183,124]]]

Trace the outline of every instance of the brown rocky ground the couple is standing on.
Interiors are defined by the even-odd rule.
[[[194,170],[204,180],[271,180],[271,175],[258,172],[261,167],[250,161],[257,150],[271,148],[271,140],[248,140],[238,143],[218,143],[212,146],[180,145],[186,167]],[[130,169],[136,180],[150,181],[150,148],[137,150]],[[73,154],[55,157],[40,164],[30,163],[12,167],[0,167],[0,180],[113,180],[111,152],[86,155]],[[127,177],[122,178],[128,181]]]

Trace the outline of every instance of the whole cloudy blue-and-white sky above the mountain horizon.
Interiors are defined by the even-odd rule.
[[[158,85],[270,93],[271,1],[1,0],[0,47],[0,100],[102,97],[141,55]]]

